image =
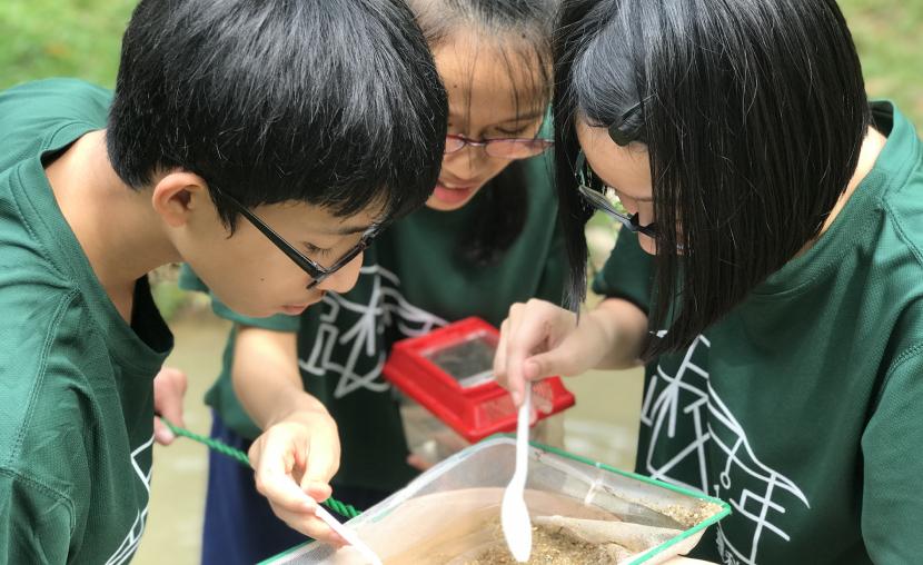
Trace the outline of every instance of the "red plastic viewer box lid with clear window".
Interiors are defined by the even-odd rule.
[[[516,429],[516,407],[509,393],[493,377],[497,329],[472,317],[449,324],[424,336],[394,345],[383,373],[401,393],[413,398],[468,442]],[[538,398],[550,406],[538,419],[574,405],[559,377],[533,386],[533,405]]]

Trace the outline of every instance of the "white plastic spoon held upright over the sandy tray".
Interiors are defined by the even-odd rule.
[[[532,521],[523,497],[528,474],[529,418],[532,416],[532,385],[526,384],[523,405],[516,419],[516,470],[503,494],[500,524],[506,545],[513,557],[524,563],[532,554]]]

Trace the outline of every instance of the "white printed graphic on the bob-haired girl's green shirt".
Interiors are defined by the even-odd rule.
[[[748,539],[736,536],[732,543],[718,523],[717,542],[722,559],[727,564],[757,563],[760,542],[774,535],[787,542],[788,534],[774,524],[793,504],[811,507],[805,494],[791,479],[760,462],[750,445],[746,433],[711,386],[708,371],[693,363],[699,347],[711,343],[699,336],[687,349],[675,375],[657,367],[657,374],[647,385],[641,422],[651,428],[651,443],[644,462],[645,470],[654,478],[683,485],[726,500],[733,507],[731,519],[753,523]],[[653,462],[653,454],[677,444],[676,429],[694,430],[687,445],[671,445],[674,457],[662,465]],[[712,442],[726,456],[708,462],[706,445]],[[714,450],[712,452],[714,453]],[[692,459],[698,469],[698,483],[686,484],[671,476],[677,465]],[[717,483],[708,484],[708,466],[717,475]],[[753,485],[758,484],[758,492]]]

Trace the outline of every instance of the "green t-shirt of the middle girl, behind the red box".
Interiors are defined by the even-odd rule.
[[[565,252],[556,227],[550,162],[549,156],[524,162],[526,224],[490,267],[469,266],[458,256],[467,227],[482,214],[486,190],[494,189],[485,188],[462,209],[421,208],[396,222],[366,252],[356,287],[345,295],[328,293],[300,319],[241,318],[212,298],[216,313],[226,318],[298,330],[305,388],[324,402],[339,427],[343,449],[334,485],[393,490],[417,474],[406,464],[398,404],[381,376],[391,344],[468,316],[499,326],[513,303],[532,297],[560,303]],[[190,272],[186,275],[183,286],[196,288]],[[234,335],[225,350],[225,368],[206,402],[231,429],[252,438],[259,429],[244,413],[230,383],[232,345]]]

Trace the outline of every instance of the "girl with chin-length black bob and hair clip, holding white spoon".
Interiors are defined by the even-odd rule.
[[[923,146],[836,3],[567,1],[556,57],[575,304],[590,210],[623,228],[606,299],[514,307],[497,377],[643,359],[637,472],[733,509],[696,557],[920,561]]]

